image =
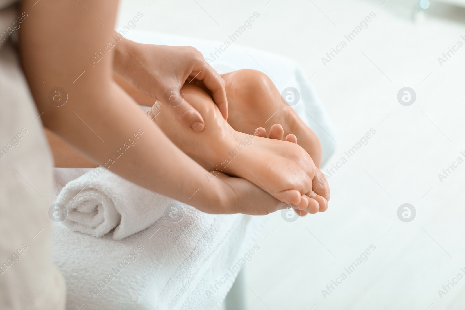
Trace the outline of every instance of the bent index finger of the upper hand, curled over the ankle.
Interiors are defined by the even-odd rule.
[[[195,76],[195,79],[203,81],[203,84],[212,92],[213,101],[219,108],[219,112],[224,119],[228,118],[228,100],[226,99],[225,81],[218,72],[208,65],[205,59],[195,66],[190,75]]]

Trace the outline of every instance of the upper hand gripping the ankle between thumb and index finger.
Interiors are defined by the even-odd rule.
[[[181,123],[196,132],[204,129],[205,122],[179,91],[184,83],[210,92],[227,119],[225,81],[194,47],[149,45],[123,38],[115,46],[113,70],[139,92],[168,106]]]

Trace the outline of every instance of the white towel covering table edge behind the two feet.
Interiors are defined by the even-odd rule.
[[[292,108],[294,108],[300,119],[315,132],[320,140],[322,166],[335,151],[336,130],[319,101],[315,90],[310,82],[307,81],[310,75],[306,75],[302,67],[294,60],[236,43],[227,47],[226,51],[221,54],[217,52],[215,56],[213,53],[220,46],[223,46],[224,42],[193,39],[173,34],[153,33],[134,29],[126,33],[125,37],[129,40],[146,44],[194,46],[219,74],[240,69],[254,69],[266,73],[272,79],[279,92],[283,92],[287,87],[294,87],[297,89],[300,99]]]

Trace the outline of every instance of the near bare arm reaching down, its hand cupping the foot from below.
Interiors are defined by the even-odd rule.
[[[46,127],[94,163],[199,210],[233,213],[244,209],[235,204],[245,202],[261,209],[256,210],[259,213],[277,209],[274,198],[250,186],[241,188],[250,201],[234,197],[234,178],[208,183],[207,171],[173,145],[154,122],[149,123],[133,99],[115,84],[116,1],[53,0],[32,7],[35,2],[22,2],[23,11],[31,13],[21,27],[20,56],[27,64],[24,72],[39,112],[44,112]],[[98,63],[92,63],[90,59],[100,49],[106,52],[100,54]],[[63,106],[49,100],[55,87],[66,90]],[[118,156],[121,148],[124,152]]]

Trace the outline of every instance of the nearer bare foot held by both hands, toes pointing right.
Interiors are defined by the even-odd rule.
[[[292,142],[263,138],[261,131],[257,131],[257,136],[253,135],[253,130],[237,132],[223,119],[203,89],[186,84],[182,92],[204,118],[203,132],[193,132],[181,125],[159,102],[148,113],[183,152],[206,170],[213,171],[206,174],[210,182],[214,182],[215,171],[220,171],[246,178],[300,210],[310,213],[326,210],[329,186],[306,150]],[[270,134],[279,137],[279,128],[272,129]],[[287,138],[295,139],[292,135]]]

